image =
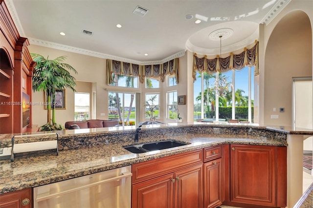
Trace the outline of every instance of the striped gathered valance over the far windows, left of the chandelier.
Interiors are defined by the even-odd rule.
[[[144,83],[147,78],[160,78],[164,82],[165,76],[175,74],[176,83],[179,83],[179,58],[162,64],[138,65],[107,59],[107,84],[113,82],[112,74],[139,77],[139,82]]]

